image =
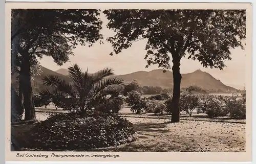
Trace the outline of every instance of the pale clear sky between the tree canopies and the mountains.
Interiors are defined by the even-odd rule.
[[[108,20],[102,15],[101,20],[103,21],[101,34],[105,40],[115,33],[106,28]],[[51,69],[52,71],[57,71],[60,68],[68,68],[75,63],[84,71],[88,68],[89,73],[94,73],[102,68],[110,67],[114,69],[116,75],[158,69],[158,65],[151,65],[150,67],[145,68],[145,43],[145,40],[137,41],[133,43],[129,49],[123,50],[118,55],[113,56],[109,55],[113,52],[113,48],[108,42],[104,42],[104,44],[95,43],[91,48],[79,45],[73,50],[75,55],[70,56],[70,62],[63,64],[62,66],[58,66],[51,57],[43,57],[39,62],[42,66]],[[226,85],[241,88],[245,85],[245,50],[236,48],[231,49],[230,52],[232,59],[225,62],[226,67],[224,67],[222,71],[217,68],[204,68],[199,61],[183,57],[181,59],[180,72],[181,74],[186,74],[201,69],[201,71],[211,74]],[[170,63],[170,65],[172,66],[172,63]]]

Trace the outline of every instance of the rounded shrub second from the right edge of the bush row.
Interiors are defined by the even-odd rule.
[[[206,114],[211,118],[228,114],[225,101],[220,96],[209,96],[205,105]]]

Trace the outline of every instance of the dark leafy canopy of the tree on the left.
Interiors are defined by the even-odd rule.
[[[98,10],[13,9],[11,14],[12,68],[23,52],[51,56],[62,65],[78,43],[91,46],[102,38]]]

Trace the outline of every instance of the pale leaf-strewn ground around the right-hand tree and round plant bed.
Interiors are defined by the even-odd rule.
[[[54,107],[36,109],[36,118],[46,120],[49,112],[56,110]],[[93,151],[245,152],[245,120],[209,119],[206,114],[194,113],[191,117],[182,114],[180,123],[171,124],[170,115],[133,114],[128,107],[120,114],[134,124],[138,139],[130,144]]]

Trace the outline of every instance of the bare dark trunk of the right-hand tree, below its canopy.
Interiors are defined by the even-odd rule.
[[[173,60],[173,78],[174,78],[174,89],[173,89],[173,98],[172,98],[172,123],[177,123],[180,121],[180,83],[181,83],[181,74],[180,74],[180,61]]]

